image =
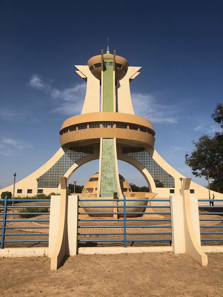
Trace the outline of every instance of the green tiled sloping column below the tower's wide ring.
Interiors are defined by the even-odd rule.
[[[102,156],[101,156],[101,197],[113,197],[113,193],[118,192],[114,139],[102,139]],[[119,196],[119,195],[118,195]]]

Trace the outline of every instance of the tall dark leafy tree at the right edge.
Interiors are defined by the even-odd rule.
[[[223,105],[218,103],[215,112],[211,116],[214,121],[223,128]],[[223,188],[223,132],[215,132],[213,137],[202,135],[198,141],[191,141],[195,149],[191,154],[185,155],[185,163],[192,169],[192,174],[198,177],[207,174],[205,170],[210,170],[209,177],[213,179],[210,189],[217,191]],[[220,192],[220,191],[219,191]],[[223,191],[222,191],[223,192]]]

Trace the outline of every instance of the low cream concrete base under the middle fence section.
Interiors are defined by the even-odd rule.
[[[136,254],[151,252],[172,252],[173,247],[79,247],[78,254],[94,255],[94,254]]]

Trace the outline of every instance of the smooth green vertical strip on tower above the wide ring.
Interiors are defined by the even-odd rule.
[[[106,54],[109,56],[111,54]],[[112,56],[112,55],[111,55]],[[103,111],[114,112],[113,105],[113,56],[111,58],[104,58],[107,65],[103,66]]]

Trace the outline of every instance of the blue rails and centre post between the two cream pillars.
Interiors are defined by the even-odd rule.
[[[95,201],[95,202],[99,202],[100,204],[105,204],[103,202],[107,202],[107,201],[117,201],[117,202],[120,202],[120,201],[123,201],[123,205],[109,205],[109,206],[106,206],[106,205],[94,205],[94,206],[83,206],[83,205],[80,205],[79,208],[112,208],[111,209],[111,212],[78,212],[78,214],[89,214],[89,215],[110,215],[110,216],[113,216],[113,215],[122,215],[121,218],[118,218],[118,219],[108,219],[107,217],[105,218],[101,218],[101,219],[78,219],[78,222],[79,222],[79,230],[78,231],[78,236],[81,236],[80,239],[78,239],[78,242],[79,243],[92,243],[92,242],[103,242],[103,243],[106,243],[106,242],[121,242],[124,244],[124,247],[126,247],[127,243],[128,242],[169,242],[170,244],[172,243],[172,232],[171,232],[171,219],[168,218],[164,218],[164,219],[138,219],[138,218],[131,218],[129,219],[128,217],[126,218],[126,216],[128,214],[134,214],[134,215],[144,215],[144,214],[158,214],[158,215],[170,215],[171,213],[170,212],[145,212],[147,208],[170,208],[170,206],[167,206],[167,205],[161,205],[161,206],[151,206],[151,205],[129,205],[129,201],[130,202],[148,202],[148,201],[160,201],[160,202],[170,202],[169,199],[126,199],[126,197],[124,196],[123,199],[79,199],[80,202],[88,202],[88,201]],[[128,201],[128,205],[126,205],[126,201]],[[99,204],[98,203],[98,204]],[[121,212],[119,211],[112,211],[113,209],[121,209]],[[128,208],[143,208],[144,211],[139,211],[139,212],[128,212]],[[86,209],[87,210],[87,209]],[[80,225],[82,222],[117,222],[117,223],[121,223],[122,225],[121,226],[112,226],[112,225],[87,225],[87,226],[83,226],[83,225]],[[131,225],[127,225],[127,222],[131,222]],[[134,224],[135,222],[167,222],[168,225],[132,225]],[[97,230],[92,230],[94,232],[89,232],[90,230],[88,230],[86,233],[85,232],[81,232],[81,230],[83,229],[104,229],[103,232],[97,232]],[[108,230],[108,232],[106,232],[106,229],[121,229],[121,232],[111,232],[112,230]],[[128,232],[128,229],[129,228],[138,228],[138,229],[142,229],[142,232]],[[144,229],[147,229],[145,230],[145,232],[143,232]],[[148,232],[148,229],[149,228],[152,228],[152,230],[155,230],[154,228],[169,228],[170,229],[170,232]],[[96,231],[96,232],[95,232]],[[139,231],[139,230],[136,230],[136,231]],[[141,230],[140,230],[141,231]],[[137,238],[139,235],[145,235],[146,237],[147,236],[153,236],[156,235],[156,236],[161,236],[161,238],[151,238],[151,237],[148,237],[147,239],[140,239],[140,238]],[[162,238],[162,235],[166,235],[166,236],[169,236],[170,238]],[[98,236],[123,236],[124,238],[123,239],[109,239],[109,237],[107,239],[83,239],[83,236],[95,236],[95,237],[98,237]],[[133,239],[129,239],[128,236],[136,236],[134,237]],[[100,237],[101,238],[101,237]]]

